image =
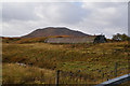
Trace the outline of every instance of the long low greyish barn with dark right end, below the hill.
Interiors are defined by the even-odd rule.
[[[105,43],[105,35],[49,38],[46,43]]]

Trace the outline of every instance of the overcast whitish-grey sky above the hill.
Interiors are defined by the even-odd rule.
[[[0,8],[1,9],[1,8]],[[1,25],[1,24],[0,24]],[[128,33],[127,2],[4,2],[2,35],[21,37],[38,28],[67,27],[88,34]]]

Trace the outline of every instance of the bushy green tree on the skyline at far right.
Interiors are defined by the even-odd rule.
[[[129,39],[130,38],[125,33],[123,34],[117,33],[113,35],[114,41],[128,41]]]

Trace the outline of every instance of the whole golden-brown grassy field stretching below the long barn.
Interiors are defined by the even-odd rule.
[[[114,71],[116,62],[118,62],[118,70],[125,68],[123,74],[129,72],[127,68],[129,66],[128,53],[130,52],[130,44],[128,42],[100,44],[3,43],[2,48],[4,84],[52,84],[55,81],[55,70],[73,73],[80,70],[81,75],[88,75],[88,83],[98,84],[106,81],[102,80],[102,73]],[[32,67],[21,68],[16,62],[31,64]],[[44,81],[40,80],[42,76],[40,74],[41,69],[43,70]],[[46,75],[47,70],[50,70],[48,75]],[[101,72],[99,73],[99,71]],[[18,78],[13,77],[15,75]],[[99,81],[91,82],[91,76]],[[35,80],[36,77],[39,81]],[[53,81],[49,82],[49,77],[53,77]],[[67,77],[64,80],[67,80]]]

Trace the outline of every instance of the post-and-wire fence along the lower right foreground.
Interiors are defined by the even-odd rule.
[[[125,67],[122,62],[116,62],[114,69],[104,72],[103,70],[98,70],[96,73],[83,73],[84,71],[78,70],[77,72],[72,71],[56,71],[55,84],[100,84],[102,82],[108,81],[110,78],[120,76],[122,74],[129,73],[128,67]]]

